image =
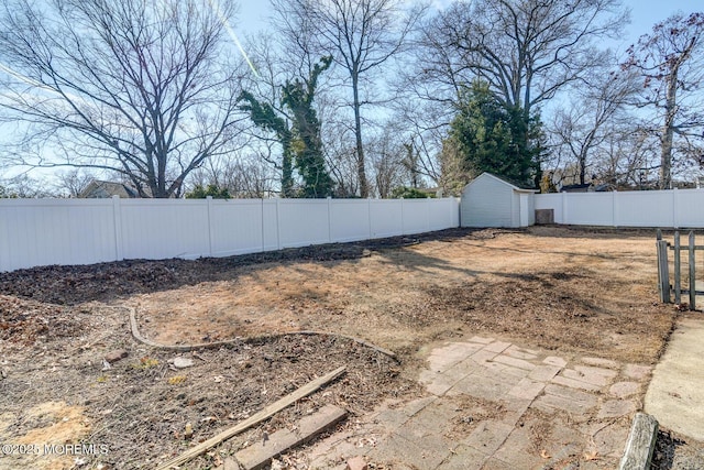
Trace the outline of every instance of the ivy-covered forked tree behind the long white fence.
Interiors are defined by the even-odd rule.
[[[242,94],[255,125],[276,134],[282,145],[282,196],[327,197],[332,195],[333,182],[326,168],[320,120],[314,109],[318,78],[330,67],[331,57],[315,65],[307,79],[287,80],[282,86],[282,107],[277,111],[268,102],[258,101],[249,91]],[[302,179],[300,192],[294,188],[294,167]]]

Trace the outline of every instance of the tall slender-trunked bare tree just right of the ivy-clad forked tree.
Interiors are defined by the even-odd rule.
[[[352,91],[359,193],[370,195],[363,143],[362,95],[365,80],[404,46],[422,9],[410,12],[403,0],[271,0],[278,28],[304,51],[332,55]],[[302,34],[301,34],[302,33]]]

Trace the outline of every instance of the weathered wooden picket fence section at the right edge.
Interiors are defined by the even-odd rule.
[[[704,250],[704,245],[697,245],[693,231],[689,233],[686,247],[682,247],[680,242],[680,232],[675,231],[673,242],[670,243],[662,238],[662,231],[658,230],[657,234],[658,250],[658,287],[660,291],[660,302],[669,304],[674,295],[674,304],[681,308],[690,310],[696,309],[696,295],[704,295],[704,291],[696,291],[696,251]],[[670,284],[670,263],[669,252],[673,252],[673,270],[674,285]],[[688,288],[682,288],[682,252],[688,254]],[[689,294],[690,303],[682,303],[682,294]]]

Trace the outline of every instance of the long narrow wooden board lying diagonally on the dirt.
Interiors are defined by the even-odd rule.
[[[308,382],[306,385],[301,386],[300,389],[296,390],[294,393],[284,396],[280,400],[277,400],[276,402],[272,403],[271,405],[268,405],[267,407],[265,407],[264,409],[262,409],[261,412],[252,415],[250,418],[243,420],[242,423],[223,430],[222,433],[218,434],[217,436],[211,437],[208,440],[205,440],[202,442],[200,442],[198,446],[186,450],[184,453],[182,453],[180,456],[177,456],[164,463],[162,463],[161,466],[158,466],[156,468],[156,470],[170,470],[173,468],[177,468],[178,466],[186,463],[187,461],[189,461],[190,459],[194,459],[196,457],[198,457],[199,455],[201,455],[202,452],[205,452],[206,450],[208,450],[209,448],[217,446],[218,444],[222,442],[226,439],[231,438],[232,436],[235,436],[240,433],[242,433],[243,430],[249,429],[250,427],[263,422],[264,419],[267,419],[272,416],[274,416],[276,413],[280,412],[282,409],[284,409],[285,407],[296,403],[297,401],[299,401],[300,398],[310,395],[311,393],[314,393],[315,391],[317,391],[318,389],[320,389],[321,386],[323,386],[324,384],[327,384],[328,382],[332,382],[334,379],[339,378],[340,375],[342,375],[342,373],[344,373],[345,367],[342,365],[341,368],[336,369],[332,372],[329,372],[327,374],[324,374],[321,378],[318,378],[311,382]]]

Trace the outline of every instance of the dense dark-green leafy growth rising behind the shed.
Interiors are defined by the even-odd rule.
[[[460,153],[471,175],[490,172],[536,187],[544,150],[540,119],[526,119],[520,107],[504,105],[485,81],[473,81],[462,95],[446,145]]]

